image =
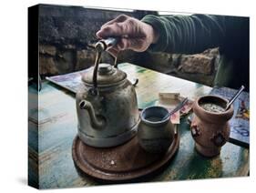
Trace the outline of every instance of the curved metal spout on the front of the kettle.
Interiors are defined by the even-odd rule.
[[[90,117],[91,127],[95,128],[95,129],[101,129],[101,128],[105,127],[106,121],[102,117],[96,117],[95,110],[92,107],[90,102],[88,102],[87,100],[81,100],[81,102],[79,103],[79,107],[81,109],[87,110],[89,117]]]

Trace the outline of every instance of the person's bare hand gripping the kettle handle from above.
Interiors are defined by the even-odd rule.
[[[151,25],[128,15],[118,15],[101,26],[97,37],[119,37],[118,44],[108,48],[111,55],[117,56],[119,51],[126,49],[144,52],[148,46],[157,42],[159,35]]]

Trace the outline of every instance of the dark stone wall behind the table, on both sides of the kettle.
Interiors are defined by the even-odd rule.
[[[41,5],[39,9],[39,70],[40,75],[53,76],[85,69],[94,65],[96,53],[92,43],[101,25],[120,14],[141,19],[156,12],[118,12],[85,9],[79,6]],[[135,53],[125,51],[118,62],[130,62],[159,72],[211,86],[218,64],[218,48],[198,55],[166,53]],[[105,53],[102,61],[112,63]]]

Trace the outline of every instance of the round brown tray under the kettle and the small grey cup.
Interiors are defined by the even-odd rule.
[[[72,157],[77,168],[87,175],[108,181],[126,181],[148,176],[164,167],[179,148],[179,132],[164,154],[150,154],[133,137],[118,147],[98,148],[84,144],[76,137]]]

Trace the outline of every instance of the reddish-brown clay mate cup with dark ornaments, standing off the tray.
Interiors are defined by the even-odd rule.
[[[205,157],[220,154],[220,148],[229,140],[229,120],[234,109],[225,107],[228,100],[220,96],[200,96],[193,104],[195,114],[191,122],[191,135],[197,151]]]

